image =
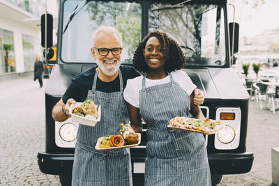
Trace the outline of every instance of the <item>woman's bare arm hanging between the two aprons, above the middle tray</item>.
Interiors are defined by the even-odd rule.
[[[131,127],[136,133],[142,133],[142,116],[140,116],[140,109],[134,107],[132,104],[126,102],[128,113],[130,116]]]

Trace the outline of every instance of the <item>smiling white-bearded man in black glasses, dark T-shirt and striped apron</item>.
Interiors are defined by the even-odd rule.
[[[72,185],[133,185],[128,148],[100,151],[94,147],[99,137],[118,134],[120,123],[129,122],[123,89],[127,79],[140,73],[120,65],[123,47],[115,28],[101,26],[93,33],[92,41],[91,53],[98,68],[82,72],[72,80],[54,106],[52,117],[55,121],[65,121],[70,115],[70,105],[76,101],[91,99],[100,104],[102,114],[95,127],[79,126]]]

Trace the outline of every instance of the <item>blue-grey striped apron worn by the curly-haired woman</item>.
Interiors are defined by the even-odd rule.
[[[147,124],[144,185],[211,185],[202,134],[167,127],[176,116],[192,117],[189,95],[174,82],[140,91],[140,114]]]

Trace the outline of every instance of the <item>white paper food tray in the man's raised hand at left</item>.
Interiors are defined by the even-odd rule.
[[[72,111],[75,107],[79,107],[82,104],[82,102],[76,102],[75,104],[70,105],[70,116],[72,118],[72,121],[75,123],[80,123],[82,125],[89,125],[91,127],[94,127],[98,121],[100,121],[100,104],[96,104],[96,108],[98,110],[98,118],[96,119],[89,119],[85,118],[83,116],[77,116],[76,114],[73,114]]]

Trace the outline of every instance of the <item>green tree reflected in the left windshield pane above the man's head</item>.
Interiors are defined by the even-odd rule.
[[[123,46],[132,56],[141,41],[141,6],[139,3],[116,3],[113,1],[90,1],[86,10],[96,24],[93,30],[102,25],[115,26],[121,33]]]

